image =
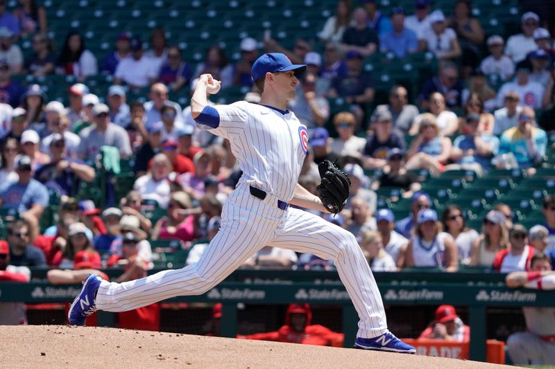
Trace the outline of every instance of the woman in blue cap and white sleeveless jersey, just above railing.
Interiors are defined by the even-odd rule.
[[[459,270],[459,252],[449,233],[442,231],[435,210],[420,210],[417,224],[400,261],[404,267],[439,267],[445,271]]]

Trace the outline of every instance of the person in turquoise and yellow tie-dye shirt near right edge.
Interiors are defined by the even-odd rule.
[[[536,113],[531,107],[522,107],[516,127],[501,135],[499,154],[513,153],[520,168],[539,164],[545,155],[547,134],[535,125]]]

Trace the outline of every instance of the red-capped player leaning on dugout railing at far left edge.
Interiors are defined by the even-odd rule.
[[[15,267],[10,264],[10,246],[0,240],[0,282],[26,283],[31,280],[31,271],[27,267]],[[0,303],[0,325],[26,325],[27,314],[24,303]]]

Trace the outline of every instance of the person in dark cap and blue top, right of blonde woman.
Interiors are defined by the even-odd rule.
[[[480,134],[478,126],[479,114],[468,114],[465,119],[463,132],[453,141],[451,160],[454,165],[447,165],[445,170],[471,169],[482,173],[490,167],[492,156],[499,151],[499,138],[489,134]]]

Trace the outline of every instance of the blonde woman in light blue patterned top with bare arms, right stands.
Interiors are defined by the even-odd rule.
[[[413,139],[407,152],[407,163],[404,168],[427,169],[437,176],[445,170],[444,164],[451,156],[451,140],[440,135],[436,117],[433,114],[422,114],[419,126],[418,136]]]

